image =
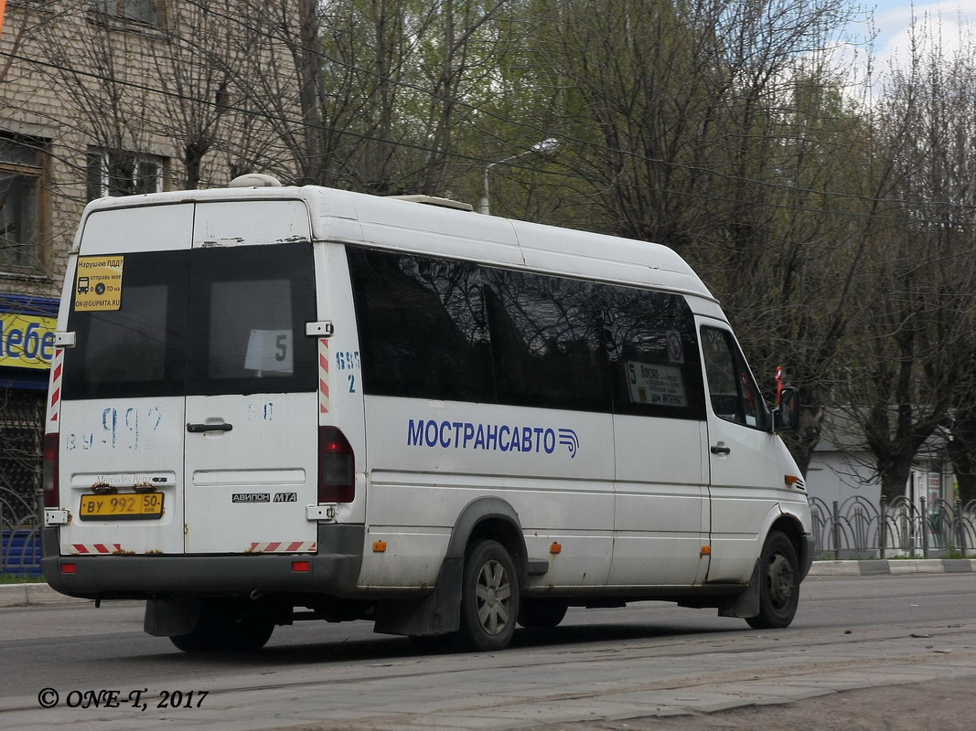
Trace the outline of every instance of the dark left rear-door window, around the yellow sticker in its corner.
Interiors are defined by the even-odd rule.
[[[118,309],[78,311],[72,304],[68,329],[77,345],[64,350],[65,399],[183,392],[188,253],[126,254]],[[85,293],[87,283],[79,277],[75,288]]]

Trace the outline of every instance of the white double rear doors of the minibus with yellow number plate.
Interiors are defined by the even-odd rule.
[[[62,554],[314,550],[313,272],[301,202],[90,215],[68,272],[89,282],[68,297]]]

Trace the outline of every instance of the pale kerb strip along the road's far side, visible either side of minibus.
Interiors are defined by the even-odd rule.
[[[976,572],[976,558],[874,558],[870,560],[814,561],[809,578],[843,576],[890,576]],[[89,604],[59,594],[47,584],[0,584],[0,608]]]

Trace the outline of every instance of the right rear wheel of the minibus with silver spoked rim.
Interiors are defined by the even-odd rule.
[[[497,541],[468,547],[461,586],[463,646],[478,651],[508,646],[518,617],[518,576],[508,551]]]

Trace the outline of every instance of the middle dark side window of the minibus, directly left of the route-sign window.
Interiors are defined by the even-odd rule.
[[[499,402],[609,411],[597,286],[484,271]]]

